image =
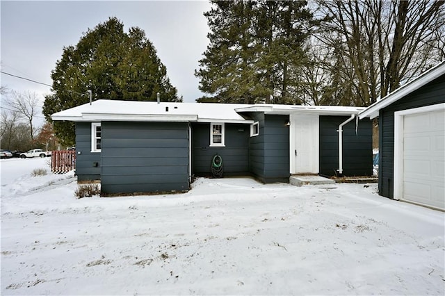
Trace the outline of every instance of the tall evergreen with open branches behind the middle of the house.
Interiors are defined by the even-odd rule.
[[[218,101],[293,103],[291,67],[303,60],[312,14],[306,1],[212,1],[210,45],[195,75]],[[298,77],[297,77],[298,79]]]

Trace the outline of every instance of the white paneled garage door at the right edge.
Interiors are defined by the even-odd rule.
[[[403,196],[445,209],[445,110],[403,116]]]

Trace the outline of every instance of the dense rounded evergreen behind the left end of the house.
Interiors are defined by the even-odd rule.
[[[84,33],[76,46],[64,47],[62,58],[51,72],[53,94],[45,97],[43,113],[51,114],[85,104],[93,99],[178,101],[177,90],[156,49],[138,27],[124,33],[120,20],[111,17]],[[54,131],[63,145],[75,142],[72,122],[54,122]]]

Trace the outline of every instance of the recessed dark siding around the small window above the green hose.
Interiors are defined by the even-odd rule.
[[[192,174],[209,176],[213,156],[223,158],[224,176],[249,174],[249,124],[225,124],[225,147],[210,147],[210,124],[192,125]]]

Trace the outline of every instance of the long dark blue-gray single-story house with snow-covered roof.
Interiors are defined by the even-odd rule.
[[[76,123],[76,175],[103,195],[184,191],[209,176],[289,183],[291,174],[372,174],[364,108],[98,100],[54,113]],[[341,131],[341,132],[339,132]],[[339,140],[341,139],[341,140]]]

